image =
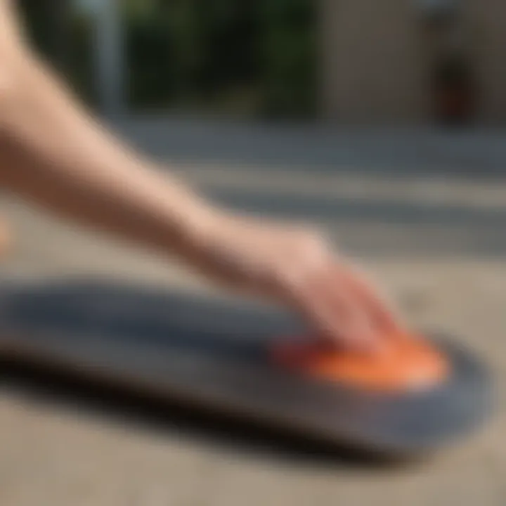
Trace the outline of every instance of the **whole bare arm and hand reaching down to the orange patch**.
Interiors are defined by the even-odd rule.
[[[216,283],[284,304],[316,335],[370,349],[396,322],[325,238],[214,206],[100,126],[25,44],[0,0],[0,183],[58,216],[176,255]]]

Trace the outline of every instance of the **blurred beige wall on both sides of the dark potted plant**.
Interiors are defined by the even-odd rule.
[[[429,45],[414,0],[319,0],[321,111],[338,124],[428,124]],[[481,124],[506,123],[506,0],[464,0]]]

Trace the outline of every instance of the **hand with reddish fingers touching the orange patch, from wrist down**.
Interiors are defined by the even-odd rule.
[[[364,276],[311,229],[222,215],[190,257],[226,287],[295,309],[319,336],[337,344],[370,348],[396,328]]]

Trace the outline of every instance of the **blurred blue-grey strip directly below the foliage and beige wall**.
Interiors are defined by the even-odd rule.
[[[115,128],[172,160],[372,173],[505,176],[506,130],[355,129],[131,118]]]

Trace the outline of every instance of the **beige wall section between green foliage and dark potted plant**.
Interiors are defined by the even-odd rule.
[[[343,124],[426,122],[426,58],[412,2],[320,2],[323,115]]]

